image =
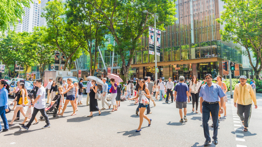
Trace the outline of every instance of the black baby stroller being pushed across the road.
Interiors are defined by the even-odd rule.
[[[59,118],[59,116],[57,115],[57,112],[58,112],[58,110],[59,110],[60,99],[61,99],[61,94],[58,93],[58,94],[54,97],[54,99],[52,100],[52,101],[55,101],[54,104],[53,104],[53,106],[52,106],[49,110],[46,111],[46,114],[47,114],[47,115],[48,115],[48,114],[51,114],[51,115],[53,115],[53,117]],[[51,104],[50,104],[48,107],[50,107],[50,106],[51,106]],[[40,119],[41,119],[42,121],[45,121],[45,118],[44,118],[42,115],[40,116]]]

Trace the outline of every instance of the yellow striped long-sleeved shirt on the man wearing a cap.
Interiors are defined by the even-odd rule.
[[[242,86],[241,83],[238,83],[234,90],[234,103],[240,105],[249,105],[252,104],[252,100],[254,105],[256,105],[256,96],[252,86],[248,83],[246,83],[244,86]]]

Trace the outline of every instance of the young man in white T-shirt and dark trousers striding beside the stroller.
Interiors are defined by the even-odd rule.
[[[46,115],[46,105],[45,105],[45,98],[46,98],[46,91],[45,88],[42,86],[43,80],[42,79],[37,79],[36,80],[36,86],[39,87],[36,95],[36,99],[34,102],[29,104],[30,107],[34,107],[34,111],[32,113],[32,117],[29,121],[29,123],[26,126],[20,126],[22,129],[28,130],[29,127],[31,126],[32,122],[35,120],[35,116],[37,115],[38,111],[41,112],[41,115],[45,118],[46,120],[46,125],[42,127],[42,129],[49,128],[51,127],[48,116]]]

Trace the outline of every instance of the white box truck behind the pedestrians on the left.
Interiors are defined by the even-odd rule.
[[[73,73],[70,71],[48,70],[44,71],[44,87],[48,84],[49,78],[53,78],[53,81],[56,81],[58,87],[63,84],[63,80],[67,80],[68,78],[72,79],[72,83],[78,82],[77,77],[73,77]]]

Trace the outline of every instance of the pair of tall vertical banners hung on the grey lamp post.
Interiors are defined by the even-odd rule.
[[[154,55],[155,53],[155,29],[149,27],[149,54]],[[156,30],[156,55],[160,56],[160,44],[161,43],[161,31]]]

